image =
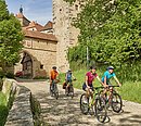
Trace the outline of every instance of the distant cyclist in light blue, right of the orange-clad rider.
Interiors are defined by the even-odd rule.
[[[72,85],[73,78],[76,79],[76,78],[73,76],[72,70],[68,70],[68,71],[66,72],[66,75],[65,75],[66,88],[68,88],[69,85]]]

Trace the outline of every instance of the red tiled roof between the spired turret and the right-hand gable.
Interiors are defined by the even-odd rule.
[[[31,22],[31,23],[29,23],[29,25],[27,27],[25,27],[25,29],[29,29],[29,28],[36,28],[38,32],[40,32],[44,27],[41,26],[40,24],[36,23],[36,22]]]

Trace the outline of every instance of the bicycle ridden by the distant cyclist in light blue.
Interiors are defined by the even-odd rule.
[[[76,80],[76,79],[73,79],[73,80]],[[72,80],[72,81],[73,81]],[[67,84],[68,85],[68,84]],[[66,96],[70,96],[72,97],[72,99],[73,99],[73,97],[74,97],[74,87],[73,87],[73,83],[70,83],[69,81],[69,86],[67,87],[65,87],[65,94]]]

